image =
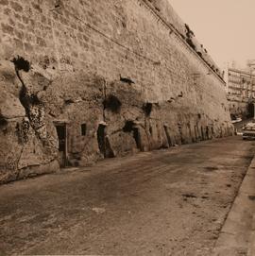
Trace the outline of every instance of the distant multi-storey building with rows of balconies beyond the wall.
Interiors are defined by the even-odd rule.
[[[226,92],[229,100],[229,111],[235,117],[251,117],[254,115],[255,74],[252,69],[227,68],[225,72]]]

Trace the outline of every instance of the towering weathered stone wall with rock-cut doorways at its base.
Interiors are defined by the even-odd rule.
[[[70,165],[231,134],[223,80],[149,2],[0,0],[0,180],[58,169],[58,122]],[[33,68],[22,80],[18,55]]]

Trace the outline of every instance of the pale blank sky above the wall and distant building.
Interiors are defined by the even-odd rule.
[[[222,68],[255,59],[255,0],[169,0]]]

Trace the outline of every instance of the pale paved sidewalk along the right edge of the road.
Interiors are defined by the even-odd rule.
[[[255,255],[255,157],[248,167],[212,255]]]

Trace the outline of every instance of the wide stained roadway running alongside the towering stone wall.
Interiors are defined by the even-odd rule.
[[[181,145],[0,187],[0,255],[210,255],[255,143]]]

